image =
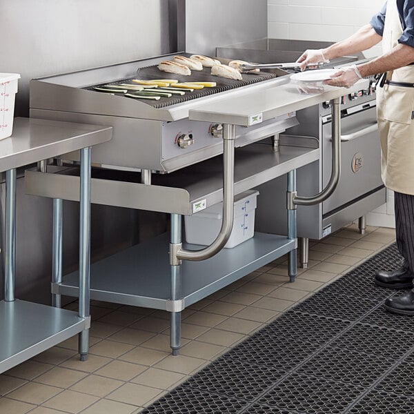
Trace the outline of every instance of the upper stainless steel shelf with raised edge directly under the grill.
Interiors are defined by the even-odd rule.
[[[266,144],[237,148],[235,195],[317,159],[319,149],[315,148],[282,145],[276,152]],[[177,172],[152,175],[151,186],[92,178],[92,203],[191,215],[193,205],[202,199],[206,199],[206,206],[222,201],[222,170],[222,157],[218,156]],[[79,201],[79,177],[28,170],[26,193]]]

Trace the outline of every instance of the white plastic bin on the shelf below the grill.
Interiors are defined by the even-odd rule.
[[[232,248],[251,239],[255,233],[256,190],[245,191],[235,197],[235,218],[233,230],[225,248]],[[184,217],[186,242],[190,244],[212,244],[223,221],[223,203],[214,204],[205,210]]]

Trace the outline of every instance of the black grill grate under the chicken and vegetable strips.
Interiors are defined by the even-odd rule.
[[[258,72],[255,74],[246,73],[243,74],[242,81],[227,79],[224,77],[217,77],[210,75],[210,68],[204,68],[202,71],[193,70],[190,76],[184,75],[175,75],[168,72],[161,72],[157,66],[147,66],[146,68],[139,68],[137,75],[132,78],[122,79],[120,81],[112,83],[99,83],[97,85],[89,86],[88,90],[93,90],[93,88],[101,87],[104,85],[118,85],[119,83],[131,83],[132,79],[140,80],[151,80],[151,79],[177,79],[179,82],[190,83],[193,82],[216,82],[217,86],[214,88],[203,88],[199,90],[194,90],[194,92],[186,92],[186,95],[176,95],[170,98],[161,97],[159,101],[150,101],[146,99],[141,99],[140,102],[146,103],[147,105],[152,106],[153,108],[164,108],[166,106],[177,105],[178,103],[184,103],[187,101],[192,101],[193,99],[198,99],[202,97],[207,97],[209,95],[215,95],[219,92],[225,92],[226,90],[240,88],[242,86],[252,85],[253,83],[258,83],[262,81],[267,81],[274,79],[278,75],[271,72]],[[99,92],[97,92],[99,93]],[[135,99],[126,97],[126,99]],[[139,99],[138,99],[139,100]]]

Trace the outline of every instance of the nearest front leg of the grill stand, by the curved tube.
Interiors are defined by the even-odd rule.
[[[171,244],[181,243],[181,215],[171,215]],[[181,299],[181,264],[170,266],[171,300]],[[181,312],[171,312],[170,315],[170,347],[172,355],[178,355],[181,347]]]

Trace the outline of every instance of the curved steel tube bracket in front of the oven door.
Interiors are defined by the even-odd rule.
[[[337,188],[341,176],[341,101],[340,98],[331,101],[332,112],[332,172],[328,185],[317,195],[312,197],[293,197],[293,204],[297,206],[313,206],[326,200]]]

